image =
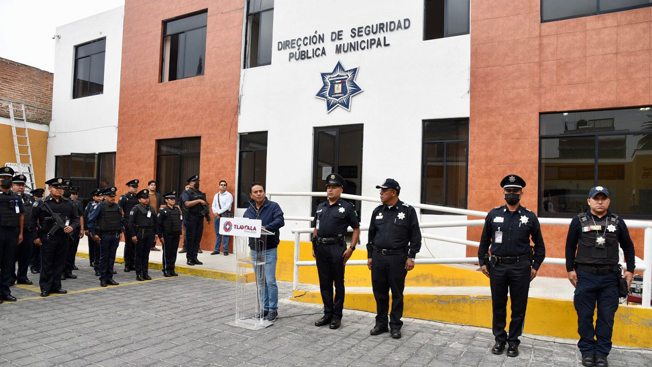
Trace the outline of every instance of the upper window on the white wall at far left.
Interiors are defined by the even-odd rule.
[[[102,94],[104,91],[104,54],[106,39],[75,47],[72,98]]]

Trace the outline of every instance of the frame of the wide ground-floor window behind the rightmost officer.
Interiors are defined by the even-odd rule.
[[[648,106],[645,106],[647,108]],[[592,109],[592,110],[572,110],[572,111],[565,111],[565,112],[602,112],[602,111],[609,111],[609,110],[628,110],[631,108],[637,108],[637,107],[621,107],[621,108],[598,108],[598,109]],[[641,107],[642,108],[642,107]],[[538,165],[538,184],[537,184],[537,189],[538,189],[538,194],[537,194],[537,215],[542,218],[572,218],[578,213],[553,213],[553,212],[544,212],[542,209],[542,204],[543,204],[543,192],[544,192],[544,182],[543,182],[543,175],[542,175],[542,148],[543,148],[543,140],[546,139],[559,139],[559,138],[575,138],[575,137],[593,137],[594,138],[594,162],[593,162],[593,187],[598,185],[598,167],[600,164],[600,155],[599,155],[599,144],[598,140],[601,136],[628,136],[628,135],[640,135],[640,134],[652,134],[651,131],[644,131],[644,130],[638,130],[638,131],[610,131],[610,132],[604,132],[604,133],[574,133],[574,134],[564,134],[564,135],[541,135],[541,116],[542,115],[550,115],[550,114],[562,114],[564,112],[541,112],[539,113],[539,165]],[[588,193],[587,193],[587,199],[588,199]],[[649,220],[652,219],[652,214],[618,214],[619,217],[623,217],[623,219],[642,219],[642,220]]]

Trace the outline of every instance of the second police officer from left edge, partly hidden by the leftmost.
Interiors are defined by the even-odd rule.
[[[31,238],[31,233],[27,229],[27,221],[29,221],[29,212],[32,210],[34,199],[31,195],[25,193],[25,180],[27,180],[27,177],[25,177],[24,174],[18,174],[11,180],[11,189],[20,196],[23,207],[25,207],[24,217],[27,218],[23,219],[23,241],[18,244],[18,247],[16,247],[16,262],[18,263],[18,272],[14,272],[14,274],[12,274],[12,278],[14,279],[14,282],[18,284],[30,285],[32,284],[32,281],[27,279],[27,268],[29,267],[29,261],[32,257],[32,247],[36,246],[34,246],[34,242]]]

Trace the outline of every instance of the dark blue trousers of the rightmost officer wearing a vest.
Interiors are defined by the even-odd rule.
[[[577,269],[577,287],[573,303],[577,311],[577,346],[582,354],[608,356],[612,347],[614,315],[618,310],[618,274],[596,275]],[[597,319],[593,326],[593,311]]]

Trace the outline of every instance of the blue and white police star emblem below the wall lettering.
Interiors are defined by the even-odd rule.
[[[315,96],[326,101],[327,112],[340,106],[347,111],[351,110],[351,97],[363,91],[355,82],[358,68],[346,70],[340,61],[337,62],[332,72],[322,72],[323,86]]]

